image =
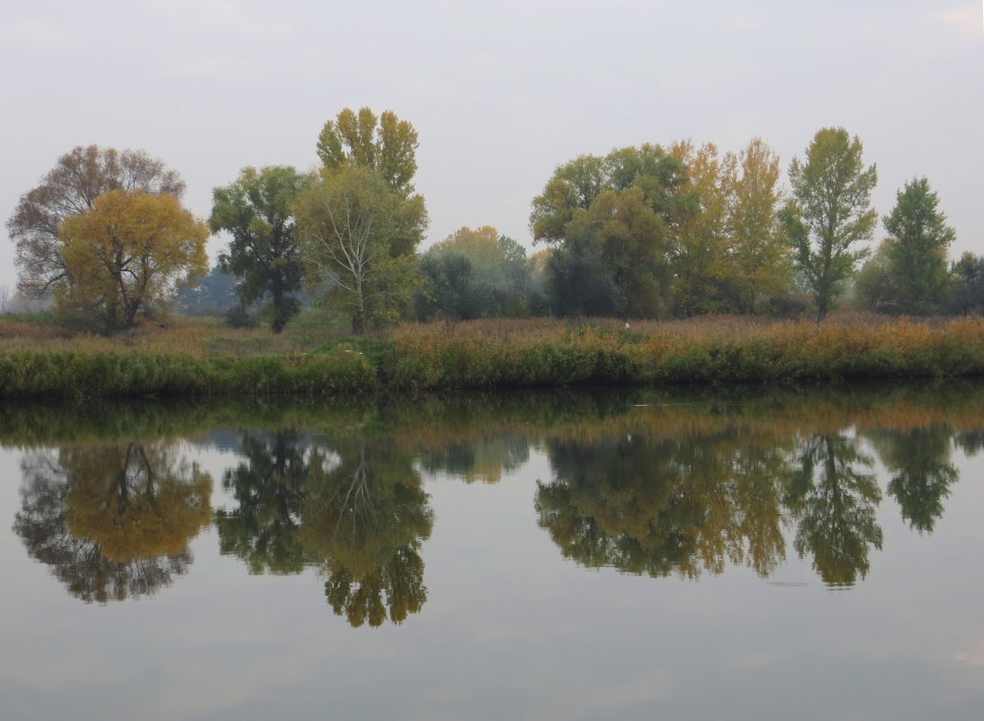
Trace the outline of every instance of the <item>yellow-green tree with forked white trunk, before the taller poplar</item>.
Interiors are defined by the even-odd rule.
[[[298,196],[295,212],[308,284],[329,288],[329,300],[350,315],[352,332],[398,318],[411,296],[413,250],[427,227],[423,197],[345,165],[323,170]]]

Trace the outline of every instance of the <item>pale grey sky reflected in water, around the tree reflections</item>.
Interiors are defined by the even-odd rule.
[[[238,456],[183,445],[215,479]],[[0,518],[20,508],[0,452]],[[399,626],[350,628],[313,570],[250,576],[215,527],[153,599],[70,598],[20,539],[0,538],[0,716],[73,719],[967,719],[984,714],[984,456],[932,534],[885,493],[883,551],[830,591],[787,545],[768,579],[587,569],[537,526],[543,449],[498,484],[425,476],[427,602]],[[787,541],[790,536],[787,534]]]

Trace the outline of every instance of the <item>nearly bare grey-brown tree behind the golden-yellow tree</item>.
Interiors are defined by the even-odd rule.
[[[28,297],[44,297],[55,284],[71,281],[59,242],[62,222],[91,211],[102,193],[145,191],[180,198],[184,188],[176,171],[145,151],[95,145],[72,149],[21,196],[7,221],[17,244],[18,290]]]

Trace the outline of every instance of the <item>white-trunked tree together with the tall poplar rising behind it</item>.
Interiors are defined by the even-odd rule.
[[[329,120],[318,137],[322,168],[295,206],[308,285],[352,320],[385,325],[407,311],[414,255],[427,229],[423,196],[413,187],[419,145],[413,126],[391,110],[367,107]]]

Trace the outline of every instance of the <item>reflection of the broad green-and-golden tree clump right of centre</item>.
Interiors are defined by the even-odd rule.
[[[775,444],[731,428],[547,447],[554,480],[538,483],[536,509],[566,557],[688,577],[719,573],[726,560],[765,575],[784,557],[778,481],[785,456]]]

